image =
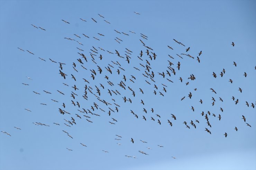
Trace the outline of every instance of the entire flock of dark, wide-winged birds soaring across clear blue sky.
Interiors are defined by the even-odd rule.
[[[134,12],[135,14],[140,15],[138,12]],[[99,19],[103,19],[103,21],[105,21],[107,24],[110,24],[110,22],[108,22],[107,20],[105,20],[105,18],[98,14],[99,18],[98,19],[93,19],[91,18],[92,22],[97,23]],[[82,22],[87,22],[86,20],[80,18],[80,20]],[[63,24],[70,24],[70,22],[66,21],[66,20],[62,20]],[[88,21],[89,22],[89,21]],[[38,27],[35,26],[33,24],[31,24],[34,28],[36,29],[41,29],[43,31],[46,31],[46,29],[42,28],[42,27]],[[124,39],[118,38],[118,36],[130,36],[128,33],[125,32],[119,32],[117,30],[113,30],[116,33],[116,37],[114,38],[114,40],[120,44],[123,41],[125,41]],[[129,31],[131,34],[138,34],[135,33],[134,31]],[[91,38],[89,36],[87,36],[86,34],[82,34],[77,35],[77,34],[73,34],[75,36],[75,38],[77,39],[87,39],[87,38]],[[82,37],[84,36],[84,37]],[[98,33],[99,37],[105,37],[104,34],[102,33]],[[145,34],[140,33],[139,36],[141,37],[140,39],[138,39],[138,41],[140,41],[143,50],[140,50],[140,52],[133,52],[132,50],[125,48],[125,51],[110,51],[101,47],[95,48],[95,47],[91,47],[90,51],[86,52],[83,50],[83,44],[80,41],[77,41],[73,38],[67,38],[64,37],[64,39],[70,40],[70,41],[74,41],[77,42],[77,45],[79,45],[80,47],[77,47],[77,59],[73,61],[73,63],[63,63],[63,62],[57,62],[54,61],[53,59],[49,58],[50,62],[55,63],[55,67],[58,67],[58,74],[60,74],[60,76],[63,78],[63,88],[68,88],[71,89],[70,95],[71,96],[67,96],[70,98],[70,103],[64,103],[62,101],[57,101],[55,99],[51,99],[53,102],[56,102],[56,106],[58,107],[58,111],[60,112],[60,121],[63,120],[62,123],[56,123],[53,122],[56,126],[65,126],[65,127],[72,127],[75,126],[76,123],[78,123],[76,121],[76,119],[85,119],[85,121],[88,121],[88,123],[93,123],[93,119],[92,117],[100,117],[102,116],[102,114],[107,114],[110,119],[109,119],[109,123],[112,125],[115,125],[118,120],[116,118],[114,118],[114,116],[118,113],[118,111],[120,110],[120,106],[122,104],[125,103],[132,103],[132,99],[135,98],[135,96],[141,96],[144,94],[144,90],[143,90],[143,84],[139,84],[141,86],[141,88],[137,88],[138,84],[136,84],[136,81],[138,79],[145,79],[145,86],[144,88],[149,88],[152,90],[152,93],[154,95],[161,95],[161,96],[165,96],[165,94],[168,91],[168,86],[170,85],[165,85],[162,82],[157,82],[155,81],[155,77],[159,76],[161,78],[163,78],[163,81],[166,81],[167,83],[175,83],[175,80],[183,82],[184,83],[184,79],[185,78],[176,78],[176,72],[178,72],[180,70],[181,67],[181,62],[178,61],[177,65],[177,69],[174,67],[175,64],[173,63],[173,61],[170,61],[172,59],[174,59],[173,56],[168,55],[168,59],[167,63],[168,66],[166,68],[162,67],[162,71],[160,72],[155,72],[155,70],[152,69],[151,65],[153,62],[157,61],[157,53],[152,49],[153,47],[149,47],[148,44],[145,42],[146,40],[148,40],[148,37]],[[100,38],[92,37],[95,40],[100,41]],[[142,40],[141,40],[142,39]],[[175,44],[176,43],[176,44]],[[185,47],[185,45],[176,40],[173,39],[173,46],[183,46]],[[232,42],[231,46],[235,47],[235,43]],[[167,46],[168,49],[170,50],[174,50],[174,47],[171,46]],[[25,51],[22,48],[19,48],[19,50],[21,51]],[[190,47],[187,47],[184,50],[184,53],[181,54],[176,54],[176,57],[178,59],[180,59],[182,61],[182,59],[184,57],[188,57],[191,59],[195,59],[200,63],[200,58],[201,55],[203,54],[202,51],[198,51],[198,55],[196,57],[191,56],[188,52],[190,50]],[[29,54],[35,55],[33,52],[26,50]],[[109,63],[107,63],[107,59],[104,62],[101,62],[102,59],[105,59],[104,57],[108,55],[116,55],[118,57],[117,61],[111,61]],[[135,56],[135,57],[134,57]],[[47,59],[38,57],[40,60],[46,62]],[[99,58],[99,59],[98,59]],[[136,62],[133,63],[139,63],[139,66],[135,66],[135,65],[131,65],[131,61],[136,60]],[[127,64],[120,64],[120,61],[126,61]],[[88,63],[88,64],[87,64]],[[234,61],[234,66],[237,67],[237,63]],[[66,72],[66,67],[72,67],[73,68],[73,72]],[[91,69],[89,69],[88,67],[92,67]],[[80,68],[79,68],[80,67]],[[131,75],[132,73],[129,73],[126,70],[126,68],[132,68],[134,69],[134,72],[136,72],[136,75],[140,75],[139,76],[135,76],[135,75]],[[255,67],[256,69],[256,67]],[[84,74],[85,72],[88,73],[87,77],[83,78],[81,81],[83,81],[83,83],[80,83],[77,78],[76,75],[77,74]],[[220,71],[220,76],[223,77],[225,75],[225,69],[223,69],[222,71]],[[99,84],[95,84],[94,80],[98,77],[99,74],[104,74],[104,78],[101,80],[101,83]],[[112,75],[115,74],[115,77],[111,79],[111,77],[113,77]],[[84,74],[86,75],[86,74]],[[212,76],[214,78],[216,78],[218,76],[218,74],[214,73],[212,74]],[[244,72],[244,77],[247,77],[247,73]],[[121,79],[120,79],[121,77]],[[172,80],[171,80],[172,77]],[[33,80],[30,77],[27,77],[29,80]],[[73,81],[72,84],[68,84],[67,79],[69,79],[70,81]],[[175,79],[175,80],[174,80]],[[116,83],[115,81],[118,80],[118,83]],[[189,80],[188,82],[185,82],[186,85],[188,85],[191,81],[196,80],[196,77],[191,74],[190,77],[187,78],[187,80]],[[232,83],[233,80],[229,79],[229,82]],[[24,86],[29,86],[29,83],[22,83]],[[118,85],[118,87],[117,87]],[[132,88],[132,87],[136,87],[136,88]],[[194,91],[196,91],[198,89],[194,89]],[[217,94],[217,92],[213,89],[210,88],[210,90],[214,93]],[[31,90],[32,91],[32,90]],[[124,96],[123,93],[124,91],[130,92],[130,96]],[[243,89],[241,89],[240,87],[238,87],[238,91],[240,93],[242,93]],[[49,92],[47,90],[42,89],[42,92],[37,92],[37,91],[33,91],[36,95],[40,95],[42,92],[46,93],[46,94],[52,94],[53,92]],[[60,93],[61,95],[66,97],[66,94],[64,94],[64,92],[62,92],[61,90],[56,90],[56,92]],[[101,94],[107,94],[108,97],[107,98],[102,98]],[[139,93],[139,94],[138,94]],[[84,107],[84,102],[82,101],[78,101],[77,98],[79,96],[82,96],[84,100],[91,102],[92,105],[90,107]],[[192,92],[189,92],[188,94],[188,98],[192,98],[193,94]],[[181,101],[184,100],[186,98],[186,96],[181,98]],[[223,102],[221,97],[218,97],[219,99],[215,99],[217,97],[212,97],[212,106],[214,106],[216,100],[220,100],[221,102]],[[118,101],[118,99],[122,99],[123,103],[117,103],[116,101]],[[238,102],[244,102],[246,104],[247,107],[252,107],[255,108],[255,105],[253,102],[248,102],[248,101],[239,101],[239,99],[236,99],[235,97],[232,97],[232,99],[235,102],[235,104],[238,104]],[[200,99],[199,102],[202,104],[203,100]],[[249,104],[251,103],[251,104]],[[40,103],[42,105],[47,105],[46,103]],[[133,110],[130,110],[131,115],[134,116],[135,119],[143,119],[145,121],[147,121],[148,119],[157,122],[159,125],[161,125],[162,123],[168,123],[171,127],[174,126],[173,122],[176,121],[176,116],[174,114],[171,114],[170,119],[167,120],[161,120],[161,115],[155,114],[154,109],[148,108],[148,106],[146,105],[146,103],[141,99],[140,102],[141,106],[142,106],[142,113],[136,113]],[[66,107],[73,105],[76,110],[77,113],[71,113],[69,111],[66,110]],[[87,104],[86,104],[87,105]],[[25,108],[25,110],[27,110],[28,112],[32,112],[30,109]],[[191,106],[191,110],[194,112],[195,108],[193,106]],[[223,109],[220,108],[220,111],[223,112]],[[153,114],[150,114],[150,116],[148,116],[149,112],[152,112]],[[63,119],[62,115],[64,114],[69,114],[70,115],[70,119]],[[210,111],[204,113],[202,111],[201,116],[203,116],[205,118],[205,121],[207,123],[207,128],[205,127],[204,131],[207,131],[208,133],[211,134],[210,128],[211,128],[211,123],[210,123],[210,116],[211,117],[217,117],[218,120],[221,120],[221,115],[215,115],[214,113],[210,113]],[[76,119],[75,119],[76,118]],[[243,121],[246,123],[247,126],[251,127],[250,124],[248,124],[246,122],[246,118],[245,116],[241,115],[241,119],[243,119]],[[36,126],[49,126],[45,123],[41,123],[41,122],[33,122]],[[199,120],[191,120],[191,122],[183,122],[185,127],[190,129],[191,126],[196,128],[197,124],[199,123]],[[190,125],[191,124],[191,125]],[[21,130],[20,128],[14,127],[17,130]],[[238,128],[234,127],[234,129],[237,131]],[[67,137],[73,139],[73,137],[71,136],[70,133],[68,133],[66,130],[62,130],[63,133],[65,133],[67,135]],[[8,132],[5,131],[1,131],[6,135],[11,136],[11,134],[9,134]],[[224,132],[223,134],[225,137],[228,136],[228,134],[226,132]],[[116,135],[115,140],[119,141],[121,140],[121,136],[120,135]],[[143,143],[147,143],[146,141],[143,140],[139,140],[140,142]],[[130,142],[132,143],[136,143],[137,141],[134,140],[133,138],[131,138]],[[80,143],[82,147],[87,147],[85,144]],[[118,145],[121,145],[121,143],[117,143]],[[162,148],[163,146],[161,145],[157,145],[158,147]],[[72,149],[66,148],[68,151],[72,151]],[[150,149],[149,147],[147,147],[147,149]],[[106,150],[102,150],[103,152],[108,153],[109,151]],[[145,155],[149,155],[148,153],[139,150],[138,151],[141,154],[145,154]],[[135,156],[128,156],[125,155],[125,157],[128,158],[136,158]],[[175,157],[172,157],[173,159],[176,159]]]

